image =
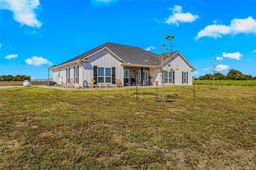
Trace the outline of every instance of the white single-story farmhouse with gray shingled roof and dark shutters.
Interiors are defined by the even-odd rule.
[[[172,52],[172,56],[173,59],[169,57],[164,62],[164,84],[192,85],[192,71],[196,69],[180,51]],[[178,70],[168,70],[168,63]],[[89,84],[93,78],[94,86],[116,86],[116,79],[125,86],[133,85],[137,77],[140,85],[162,85],[161,63],[156,60],[155,53],[115,43],[105,43],[50,69],[53,81],[58,84],[73,80],[75,86],[83,86],[85,81]]]

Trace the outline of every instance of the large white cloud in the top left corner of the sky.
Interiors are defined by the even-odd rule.
[[[21,25],[39,28],[42,23],[37,20],[34,12],[38,6],[40,6],[39,0],[1,0],[0,9],[12,11],[14,20]]]

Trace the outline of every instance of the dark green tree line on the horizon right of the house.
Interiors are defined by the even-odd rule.
[[[230,69],[228,74],[225,76],[220,72],[215,73],[215,80],[256,80],[256,76],[252,77],[251,75],[242,74],[242,72]],[[204,76],[199,76],[199,80],[212,80],[212,74],[205,74]]]

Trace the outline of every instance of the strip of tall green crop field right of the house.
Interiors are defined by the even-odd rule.
[[[195,80],[196,85],[213,85],[213,80]],[[217,86],[256,86],[256,80],[215,80]]]

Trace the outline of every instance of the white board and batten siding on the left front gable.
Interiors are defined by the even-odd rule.
[[[84,67],[84,76],[83,76],[83,80],[86,80],[88,83],[91,82],[91,79],[93,78],[93,67],[97,66],[97,67],[105,67],[105,68],[112,68],[115,67],[116,68],[116,78],[117,80],[120,79],[122,84],[124,84],[124,68],[123,66],[121,66],[121,61],[114,57],[114,55],[104,49],[101,51],[98,51],[98,53],[95,53],[94,55],[90,56],[87,58],[89,61],[84,63],[83,67]],[[98,80],[97,80],[98,82]],[[101,86],[104,83],[98,83],[98,84],[94,84],[94,86]],[[109,84],[109,83],[108,83]],[[110,83],[111,86],[115,86],[115,84]],[[107,84],[104,84],[107,85]]]

